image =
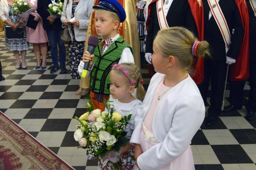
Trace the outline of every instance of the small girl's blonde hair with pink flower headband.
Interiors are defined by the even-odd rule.
[[[121,69],[120,66],[122,66],[123,69]],[[127,74],[127,72],[128,72],[128,74]],[[110,72],[110,76],[112,76],[112,75],[121,75],[121,76],[126,77],[127,81],[125,83],[128,86],[134,85],[135,88],[137,89],[135,97],[140,100],[144,99],[145,90],[143,87],[141,71],[136,65],[134,65],[133,63],[121,63],[119,65],[115,64],[115,65],[113,65],[113,68]],[[134,80],[134,83],[132,83],[133,82],[132,80]]]

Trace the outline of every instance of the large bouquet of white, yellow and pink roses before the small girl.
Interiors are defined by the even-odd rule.
[[[88,98],[89,95],[87,95]],[[74,132],[74,139],[79,142],[80,147],[86,149],[89,157],[103,158],[109,150],[119,152],[120,148],[129,141],[124,128],[128,125],[131,118],[122,116],[121,111],[113,112],[111,101],[104,102],[108,111],[101,112],[100,109],[93,110],[91,101],[87,103],[88,112],[80,118],[75,117],[80,123],[76,125],[77,130]],[[121,169],[120,161],[113,162],[115,169]]]

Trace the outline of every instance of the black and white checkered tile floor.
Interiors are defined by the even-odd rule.
[[[96,170],[97,160],[85,160],[84,150],[76,149],[78,142],[73,138],[78,123],[74,116],[86,112],[87,103],[75,94],[79,81],[72,79],[69,72],[62,74],[59,70],[50,74],[50,56],[47,69],[35,70],[32,45],[26,56],[28,68],[15,69],[15,56],[5,49],[3,36],[0,36],[0,60],[6,78],[0,82],[0,110],[76,170]],[[69,70],[68,65],[67,62]],[[146,69],[143,73],[147,89],[150,79]],[[248,92],[249,85],[246,85],[244,104]],[[228,93],[229,90],[225,105],[229,104]],[[223,112],[211,127],[202,124],[191,143],[196,170],[256,169],[256,120],[247,121],[245,115],[243,107]]]

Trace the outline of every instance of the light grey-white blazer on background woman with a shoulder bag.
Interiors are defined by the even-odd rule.
[[[62,23],[65,19],[71,19],[73,0],[69,0],[68,4],[67,2],[68,0],[64,0],[63,13],[61,14]],[[86,39],[87,28],[91,17],[91,13],[93,11],[93,3],[93,0],[80,0],[78,5],[76,6],[74,17],[76,20],[79,20],[79,27],[74,25],[76,41],[85,41]],[[65,25],[62,24],[62,27],[64,28]],[[71,41],[73,41],[71,25],[69,25],[69,33],[71,35]]]

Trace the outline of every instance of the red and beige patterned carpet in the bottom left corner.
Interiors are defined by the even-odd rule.
[[[74,170],[0,112],[0,170]]]

